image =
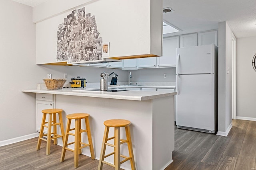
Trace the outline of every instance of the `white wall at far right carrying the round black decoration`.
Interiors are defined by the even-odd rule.
[[[256,37],[236,39],[236,116],[256,120],[256,72],[252,58],[256,53]]]

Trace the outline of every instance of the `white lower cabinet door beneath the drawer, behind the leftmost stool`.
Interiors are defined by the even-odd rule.
[[[40,127],[43,118],[43,109],[53,109],[54,102],[36,100],[36,131],[40,132]],[[46,121],[48,121],[48,116],[46,117]],[[44,133],[47,133],[47,128],[44,128]]]

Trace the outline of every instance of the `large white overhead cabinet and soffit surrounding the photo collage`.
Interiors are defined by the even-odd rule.
[[[62,3],[56,6],[56,2],[48,1],[33,9],[33,20],[36,23],[36,64],[67,61],[67,57],[60,57],[61,59],[58,60],[61,61],[56,59],[57,31],[59,25],[64,23],[73,10],[81,8],[85,8],[85,14],[95,18],[97,31],[100,33],[98,37],[102,37],[102,43],[110,44],[108,56],[102,55],[104,61],[162,56],[162,1],[80,0],[79,2],[80,5],[76,2],[76,6],[73,6],[69,0],[62,0]],[[54,10],[52,6],[56,9]],[[49,11],[45,10],[48,8]]]

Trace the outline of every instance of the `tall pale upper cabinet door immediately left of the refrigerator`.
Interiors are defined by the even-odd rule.
[[[179,36],[163,39],[163,56],[158,58],[158,67],[176,65],[176,48],[179,48]]]

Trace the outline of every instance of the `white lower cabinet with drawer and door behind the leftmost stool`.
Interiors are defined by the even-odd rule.
[[[53,109],[54,108],[54,95],[53,94],[42,94],[36,93],[36,131],[40,132],[43,109]],[[46,117],[48,121],[48,116]],[[47,128],[44,128],[44,133],[47,133]]]

